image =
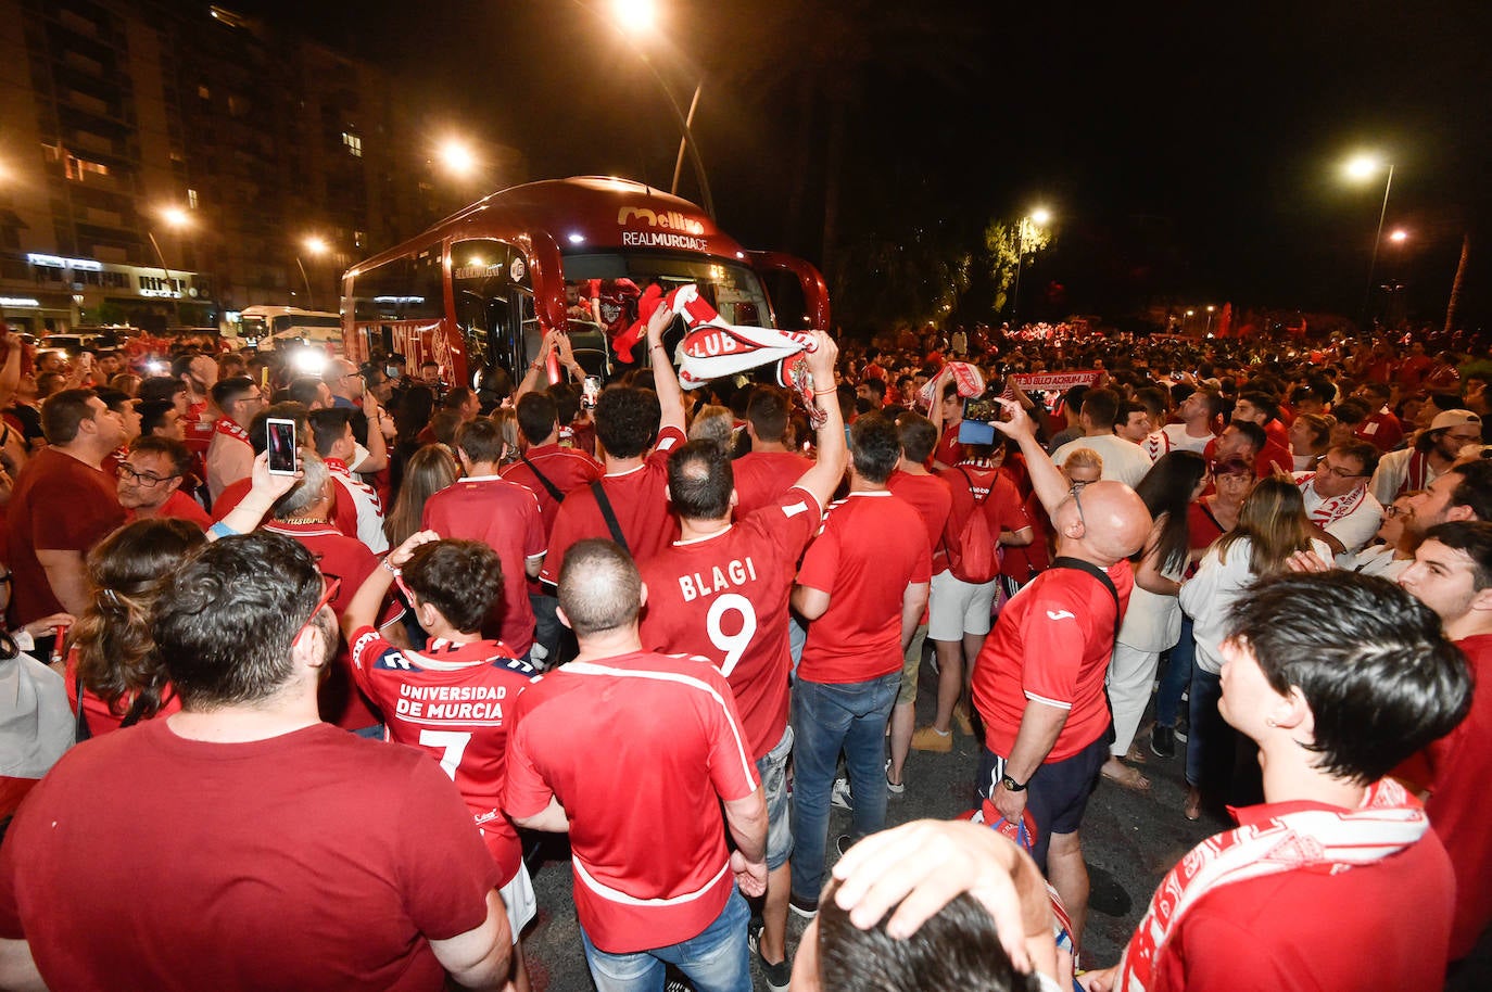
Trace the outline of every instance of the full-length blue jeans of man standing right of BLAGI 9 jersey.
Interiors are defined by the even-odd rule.
[[[844,750],[855,795],[856,838],[886,825],[886,722],[901,688],[901,671],[830,685],[798,679],[792,701],[792,891],[816,900],[824,886],[830,791]]]

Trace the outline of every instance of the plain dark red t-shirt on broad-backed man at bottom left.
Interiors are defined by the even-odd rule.
[[[0,937],[54,989],[434,992],[428,941],[479,926],[497,876],[424,755],[327,723],[219,744],[149,721],[27,797]]]

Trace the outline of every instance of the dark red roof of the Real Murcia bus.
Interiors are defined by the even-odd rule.
[[[731,258],[746,251],[704,210],[631,179],[577,176],[510,186],[463,207],[422,234],[358,263],[349,274],[401,258],[445,237],[522,242],[546,233],[562,254],[653,249]]]

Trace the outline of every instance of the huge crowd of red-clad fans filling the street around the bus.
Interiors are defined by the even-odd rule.
[[[564,336],[482,394],[4,340],[0,988],[525,991],[533,832],[603,992],[1058,988],[1150,761],[1240,826],[1083,988],[1468,980],[1479,342],[816,333],[806,410],[673,316],[594,403]],[[955,734],[974,823],[885,832]]]

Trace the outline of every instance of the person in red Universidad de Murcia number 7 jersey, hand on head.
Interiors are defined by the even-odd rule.
[[[400,649],[373,621],[395,576],[431,640]],[[386,713],[385,740],[424,749],[461,791],[477,832],[501,870],[500,892],[513,934],[513,991],[528,991],[518,935],[534,917],[534,888],[518,831],[503,814],[507,718],[536,671],[482,622],[503,595],[503,564],[486,544],[419,531],[389,552],[342,616],[358,683]]]

